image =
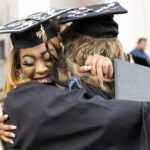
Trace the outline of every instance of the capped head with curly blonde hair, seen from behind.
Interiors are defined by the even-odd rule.
[[[85,88],[84,83],[87,83],[113,97],[113,80],[105,75],[105,69],[104,77],[101,75],[101,78],[97,78],[90,73],[81,74],[79,66],[84,64],[89,55],[102,55],[111,61],[114,58],[126,60],[126,54],[117,38],[118,24],[113,19],[114,14],[121,13],[127,13],[127,10],[118,3],[109,3],[77,8],[61,16],[60,24],[72,24],[61,34],[65,52],[58,69],[60,80],[67,81],[76,76],[80,88]]]

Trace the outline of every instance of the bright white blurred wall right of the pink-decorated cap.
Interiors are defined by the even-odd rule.
[[[109,1],[109,0],[108,0]],[[136,47],[141,37],[148,39],[146,53],[150,55],[150,1],[149,0],[118,0],[127,8],[128,14],[117,15],[119,23],[119,38],[126,52]]]

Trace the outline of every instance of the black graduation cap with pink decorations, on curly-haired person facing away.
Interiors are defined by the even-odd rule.
[[[59,23],[73,22],[72,26],[81,34],[92,37],[112,38],[118,35],[118,24],[114,14],[127,13],[118,2],[75,8],[61,15]]]

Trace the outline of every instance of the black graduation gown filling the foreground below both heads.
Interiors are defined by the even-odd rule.
[[[28,82],[8,93],[7,150],[150,150],[150,103],[89,97]]]

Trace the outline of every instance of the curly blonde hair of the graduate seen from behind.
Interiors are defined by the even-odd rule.
[[[71,26],[61,36],[65,52],[58,67],[59,80],[68,81],[71,80],[72,75],[75,75],[79,79],[77,84],[80,88],[83,88],[80,82],[82,80],[112,95],[112,80],[103,78],[101,81],[104,81],[104,84],[101,84],[99,79],[90,73],[80,73],[79,68],[84,65],[89,55],[94,54],[108,57],[111,60],[113,58],[125,60],[126,56],[120,41],[117,38],[93,38],[82,35]]]

